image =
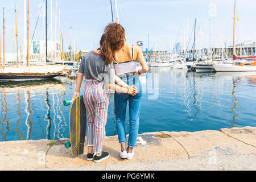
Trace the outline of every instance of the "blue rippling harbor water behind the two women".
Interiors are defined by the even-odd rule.
[[[151,67],[140,79],[140,134],[256,127],[256,72],[196,73]],[[76,80],[62,76],[0,82],[0,141],[69,138],[70,106],[63,101],[72,98],[75,85]],[[82,88],[83,84],[80,93]],[[116,134],[110,94],[106,135]]]

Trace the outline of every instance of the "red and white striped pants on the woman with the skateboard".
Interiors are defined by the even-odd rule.
[[[87,146],[94,147],[94,153],[102,151],[108,119],[109,92],[106,86],[94,79],[85,79],[84,104],[87,114]]]

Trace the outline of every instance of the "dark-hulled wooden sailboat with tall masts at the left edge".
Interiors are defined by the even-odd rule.
[[[29,24],[29,5],[27,0],[27,66],[23,66],[19,64],[18,60],[18,53],[17,53],[17,64],[15,66],[8,66],[5,65],[5,51],[3,51],[3,65],[0,69],[0,81],[5,80],[27,80],[27,79],[42,79],[42,78],[52,78],[55,76],[61,75],[63,73],[65,67],[67,65],[29,65],[29,55],[28,55],[28,24]],[[47,0],[46,0],[46,7],[47,7]],[[47,8],[46,8],[47,12]],[[15,0],[15,14],[16,14],[16,0]],[[16,16],[15,16],[16,17]],[[16,19],[17,21],[17,19]],[[16,24],[17,28],[17,24]],[[17,31],[16,31],[17,32]],[[17,36],[17,33],[16,33]],[[5,9],[3,7],[3,47],[5,45]],[[47,43],[47,36],[46,36],[46,43]],[[16,43],[18,45],[18,41]],[[18,46],[17,46],[18,47]],[[47,47],[47,46],[46,46]],[[4,49],[5,50],[5,49]],[[46,49],[47,50],[47,49]],[[18,49],[17,49],[18,52]],[[47,57],[47,51],[46,51]],[[1,63],[0,63],[1,64]]]

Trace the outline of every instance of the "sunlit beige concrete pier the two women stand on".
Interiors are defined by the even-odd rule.
[[[61,140],[0,142],[0,170],[256,170],[256,127],[138,135],[134,159],[119,157],[117,135],[106,137],[101,163],[72,158]]]

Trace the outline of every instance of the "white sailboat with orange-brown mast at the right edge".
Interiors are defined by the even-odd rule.
[[[217,72],[251,72],[256,71],[256,56],[238,57],[236,55],[235,39],[236,27],[236,0],[234,0],[234,27],[233,27],[233,64],[213,64]]]

